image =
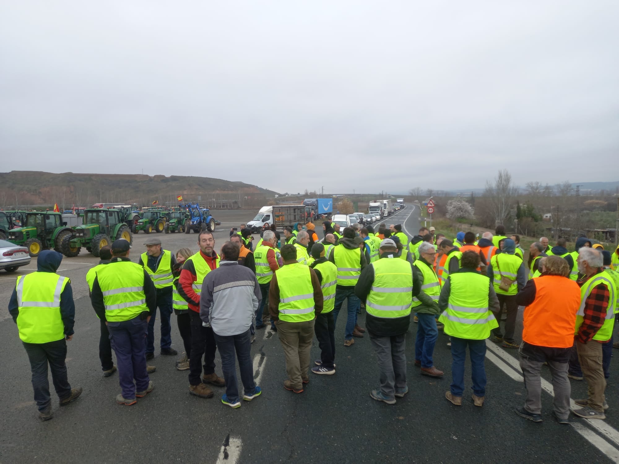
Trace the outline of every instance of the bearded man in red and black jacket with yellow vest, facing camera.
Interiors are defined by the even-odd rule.
[[[211,398],[213,390],[205,384],[223,387],[225,380],[215,374],[215,335],[211,327],[204,327],[200,319],[200,293],[207,273],[219,267],[219,256],[215,253],[215,238],[209,231],[201,231],[197,236],[200,251],[185,260],[180,278],[178,293],[189,306],[191,319],[191,358],[189,358],[189,393],[201,398]],[[204,354],[204,376],[202,374],[202,354]]]

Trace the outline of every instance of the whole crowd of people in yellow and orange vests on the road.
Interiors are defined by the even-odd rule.
[[[313,223],[298,223],[282,234],[269,226],[258,243],[248,228],[231,230],[215,251],[209,231],[197,235],[199,251],[172,253],[149,238],[138,262],[123,239],[100,251],[100,263],[86,276],[93,310],[100,319],[103,376],[118,371],[116,402],[133,405],[154,388],[147,361],[154,358],[154,325],[159,310],[160,354],[171,347],[171,314],[176,314],[184,353],[176,369],[189,371],[189,393],[211,398],[225,388],[224,405],[241,406],[261,394],[253,376],[251,343],[258,330],[277,333],[285,356],[283,387],[302,393],[310,372],[335,374],[335,325],[346,304],[344,346],[366,335],[378,359],[379,385],[370,396],[396,403],[409,391],[405,338],[417,323],[414,365],[441,377],[433,361],[439,332],[451,347],[452,382],[445,397],[462,405],[468,348],[472,402],[486,395],[486,340],[519,350],[527,389],[516,413],[539,422],[543,364],[555,389],[554,411],[568,423],[569,379],[586,379],[589,397],[576,400],[574,414],[604,419],[605,377],[610,366],[619,273],[610,252],[587,238],[568,252],[564,239],[550,247],[541,238],[524,259],[520,237],[503,226],[478,238],[460,232],[454,239],[422,227],[409,238],[398,224],[355,224],[341,229],[326,220],[319,239]],[[615,254],[619,253],[619,249]],[[47,379],[50,364],[60,405],[79,397],[67,379],[66,342],[74,333],[74,302],[68,278],[56,274],[61,255],[43,251],[37,272],[17,278],[9,311],[28,353],[40,418],[51,419]],[[517,309],[524,309],[522,340],[515,338]],[[366,312],[365,327],[359,315]],[[503,313],[505,322],[503,323]],[[501,330],[501,324],[503,330]],[[269,329],[267,329],[267,327]],[[314,336],[320,356],[311,359]],[[111,351],[116,353],[113,364]],[[216,373],[219,351],[223,377]],[[236,377],[238,361],[243,393]]]

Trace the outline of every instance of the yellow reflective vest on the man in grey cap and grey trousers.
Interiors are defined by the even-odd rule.
[[[374,281],[365,303],[366,312],[381,319],[409,316],[413,301],[410,263],[381,258],[370,265],[374,268]]]

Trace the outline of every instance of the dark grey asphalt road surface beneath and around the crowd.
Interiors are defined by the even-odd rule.
[[[247,220],[246,215],[228,214],[229,220],[227,215],[217,217],[223,222],[215,235],[218,243],[227,238],[233,224]],[[412,235],[418,229],[418,207],[408,205],[385,222],[403,223]],[[170,249],[195,241],[193,234],[160,237]],[[140,234],[134,243],[140,244],[144,238]],[[61,269],[66,269],[62,273],[72,277],[77,287],[96,260],[80,255],[71,261],[79,264],[69,268],[63,262]],[[0,281],[0,297],[6,308],[4,300],[11,283],[5,280]],[[619,461],[619,419],[613,416],[619,407],[615,366],[607,388],[610,410],[606,421],[591,424],[573,416],[572,425],[561,426],[550,416],[552,397],[543,393],[544,422],[535,424],[513,412],[525,394],[519,372],[511,367],[517,366],[515,350],[508,353],[491,344],[485,405],[477,408],[465,397],[457,407],[444,398],[451,381],[448,337],[439,335],[435,349],[435,365],[444,369],[446,376],[421,376],[413,365],[415,324],[407,335],[409,394],[393,406],[370,398],[370,390],[378,386],[376,359],[367,336],[356,338],[353,346],[343,346],[344,317],[335,332],[337,373],[310,374],[300,395],[282,386],[284,355],[277,334],[259,330],[252,351],[257,368],[254,376],[263,393],[252,402],[243,402],[241,408],[232,410],[220,403],[223,389],[208,400],[189,395],[188,372],[176,371],[176,356],[158,355],[152,361],[157,366],[151,376],[154,391],[137,405],[119,406],[114,400],[119,392],[118,376],[104,379],[100,375],[98,320],[87,294],[76,294],[76,335],[68,343],[67,366],[69,381],[84,387],[84,393],[64,408],[54,406],[51,421],[40,423],[36,418],[26,353],[12,320],[0,321],[0,351],[4,354],[0,360],[2,463]],[[364,318],[361,315],[361,325]],[[175,323],[172,326],[173,346],[181,351],[178,329]],[[312,354],[313,358],[319,356],[315,341]],[[217,364],[221,374],[219,360]],[[467,369],[467,376],[469,372]],[[547,371],[543,377],[550,382]],[[470,380],[466,385],[468,390]],[[573,382],[572,397],[585,395],[586,384]]]

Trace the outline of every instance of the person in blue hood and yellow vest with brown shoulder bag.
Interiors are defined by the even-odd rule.
[[[486,275],[493,281],[496,296],[499,299],[500,311],[495,313],[499,327],[493,329],[495,337],[493,342],[501,343],[505,348],[518,348],[519,344],[514,340],[516,329],[516,315],[518,304],[516,294],[527,283],[527,270],[524,262],[516,256],[516,243],[511,238],[502,239],[503,248],[500,254],[495,254],[490,259]],[[505,335],[501,335],[501,311],[507,310],[505,321]]]

